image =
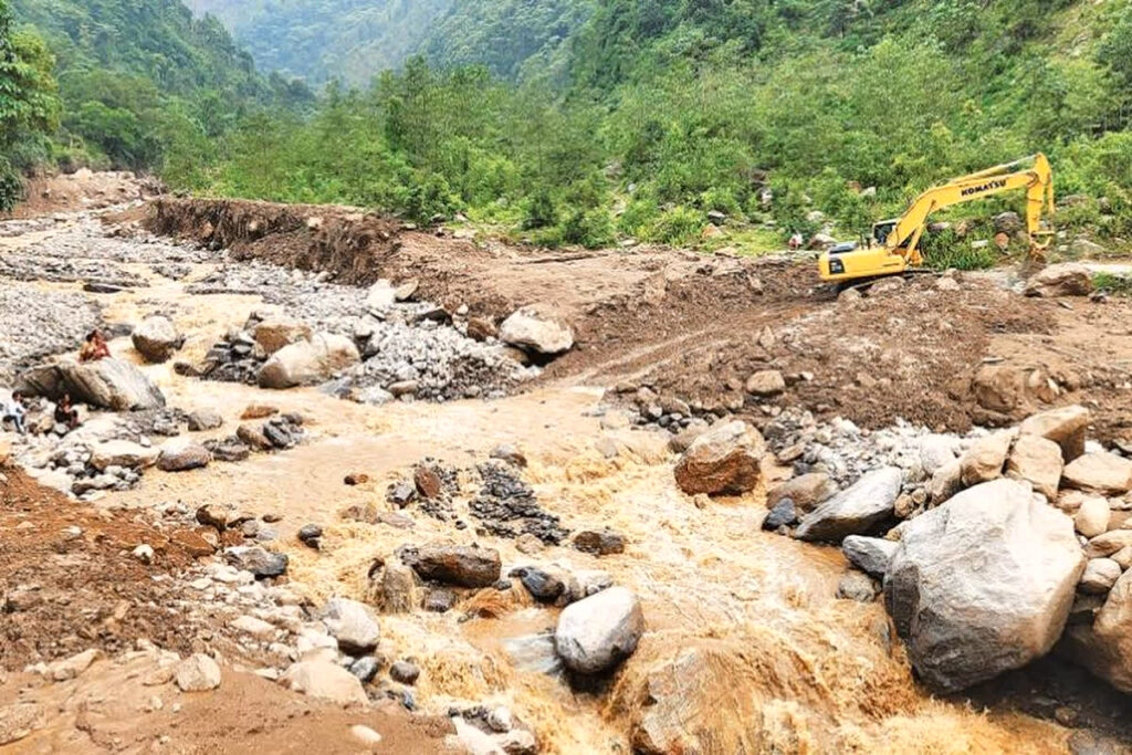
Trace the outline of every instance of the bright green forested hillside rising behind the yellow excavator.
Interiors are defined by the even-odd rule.
[[[154,112],[173,120],[142,132],[165,135],[162,171],[177,187],[417,220],[461,212],[547,243],[633,237],[754,249],[831,222],[856,235],[932,182],[1040,149],[1060,194],[1087,196],[1062,214],[1064,226],[1132,233],[1130,0],[197,2],[229,19],[272,15],[281,25],[264,36],[274,49],[293,48],[324,72],[329,59],[305,40],[333,40],[346,54],[343,35],[366,28],[350,12],[435,15],[410,24],[421,34],[403,34],[396,50],[415,45],[421,57],[357,88],[332,84],[312,113],[255,106],[286,87],[263,84],[211,19],[189,28],[216,34],[211,52],[226,62],[186,60],[214,76],[242,70],[246,81],[190,75],[190,94],[170,106],[162,66],[108,58],[164,83]],[[345,12],[334,25],[280,20],[331,6]],[[106,154],[132,154],[102,147],[112,121],[76,108],[71,55],[54,41],[67,25],[50,16],[40,24],[63,61],[65,128]],[[389,28],[405,31],[380,27]],[[70,38],[86,55],[97,50],[94,37]],[[211,86],[237,95],[199,95]],[[205,105],[215,115],[201,117]],[[709,213],[727,216],[726,239],[704,241]]]

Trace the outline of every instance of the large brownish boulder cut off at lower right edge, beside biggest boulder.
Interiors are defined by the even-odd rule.
[[[1116,581],[1091,625],[1065,630],[1065,646],[1094,675],[1132,693],[1132,570]]]

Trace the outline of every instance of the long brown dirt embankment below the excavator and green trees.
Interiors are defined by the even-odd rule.
[[[546,379],[648,386],[697,411],[765,418],[801,404],[877,428],[898,418],[964,431],[1048,405],[1090,404],[1098,437],[1126,437],[1132,308],[1026,299],[1003,275],[923,278],[839,302],[813,265],[692,252],[558,250],[475,242],[355,208],[162,198],[146,225],[365,285],[414,278],[420,295],[500,321],[550,304],[575,348]],[[1063,302],[1064,303],[1064,302]],[[777,370],[786,388],[753,395]]]

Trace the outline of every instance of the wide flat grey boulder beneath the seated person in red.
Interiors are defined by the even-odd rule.
[[[15,389],[51,401],[59,401],[69,394],[77,404],[115,412],[161,409],[165,405],[165,396],[142,370],[112,358],[96,362],[63,361],[33,367],[17,378]]]

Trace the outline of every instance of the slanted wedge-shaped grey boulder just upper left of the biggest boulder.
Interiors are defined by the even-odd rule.
[[[848,535],[866,534],[892,517],[902,483],[900,467],[869,472],[801,517],[794,537],[840,543]]]

